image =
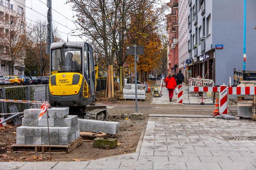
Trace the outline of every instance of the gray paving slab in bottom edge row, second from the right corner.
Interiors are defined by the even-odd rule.
[[[188,170],[221,170],[218,163],[186,162]]]

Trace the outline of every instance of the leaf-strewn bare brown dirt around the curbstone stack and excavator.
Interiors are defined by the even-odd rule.
[[[133,100],[124,100],[120,93],[115,93],[115,98],[106,100],[104,91],[97,93],[99,103],[121,103],[134,105]],[[152,97],[147,93],[145,101],[138,101],[141,104],[151,103]],[[141,132],[147,123],[147,115],[142,120],[131,120],[130,112],[123,113],[121,109],[112,109],[108,112],[108,120],[120,123],[119,133],[109,137],[118,139],[118,146],[113,149],[93,148],[93,140],[86,140],[81,146],[66,154],[52,154],[53,161],[87,161],[104,157],[110,157],[136,151]],[[46,161],[49,154],[35,154],[30,152],[12,153],[11,145],[16,143],[16,126],[8,123],[5,127],[0,127],[0,161]]]

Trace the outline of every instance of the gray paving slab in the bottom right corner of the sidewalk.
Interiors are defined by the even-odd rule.
[[[223,170],[256,170],[251,163],[219,163]]]

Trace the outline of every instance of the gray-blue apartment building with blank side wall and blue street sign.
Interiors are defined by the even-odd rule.
[[[244,0],[188,0],[188,51],[192,77],[233,82],[233,70],[243,70]],[[246,70],[256,70],[256,1],[247,0]]]

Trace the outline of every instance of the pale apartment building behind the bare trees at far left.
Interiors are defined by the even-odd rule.
[[[3,16],[8,16],[5,12],[8,10],[15,11],[19,14],[25,13],[25,0],[0,0],[0,17]],[[12,17],[12,16],[8,16]],[[1,22],[1,21],[0,21]],[[1,28],[0,27],[0,32],[6,32],[9,31],[8,28]],[[4,44],[0,44],[0,50],[5,49]],[[8,60],[3,60],[2,57],[0,56],[0,75],[6,76],[6,75],[11,75],[11,68],[10,65],[8,64]],[[14,75],[24,75],[24,70],[25,66],[24,65],[15,65],[15,69],[13,70]]]

